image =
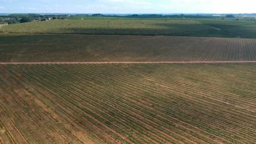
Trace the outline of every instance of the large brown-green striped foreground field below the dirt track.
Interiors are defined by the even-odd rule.
[[[4,143],[256,143],[256,64],[6,64],[0,81]]]

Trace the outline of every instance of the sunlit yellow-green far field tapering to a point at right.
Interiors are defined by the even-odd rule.
[[[213,29],[192,20],[86,19],[52,20],[11,24],[0,29],[9,33],[175,35]]]

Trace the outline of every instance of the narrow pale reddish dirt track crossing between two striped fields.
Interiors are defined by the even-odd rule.
[[[113,61],[113,62],[0,62],[0,64],[187,64],[187,63],[256,63],[256,61]]]

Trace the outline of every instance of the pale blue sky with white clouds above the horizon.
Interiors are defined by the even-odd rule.
[[[256,0],[0,0],[0,13],[256,13]]]

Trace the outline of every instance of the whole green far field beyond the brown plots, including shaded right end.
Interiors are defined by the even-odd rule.
[[[96,35],[169,35],[192,37],[256,38],[256,22],[233,18],[205,19],[136,19],[117,17],[70,17],[68,20],[51,20],[11,24],[0,29],[9,33],[37,34],[96,34]],[[216,30],[217,29],[217,30]]]

